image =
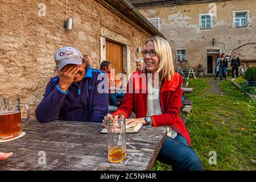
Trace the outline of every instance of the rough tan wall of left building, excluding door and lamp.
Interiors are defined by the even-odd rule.
[[[46,16],[40,17],[39,3]],[[61,46],[77,47],[91,55],[99,68],[101,28],[129,40],[131,72],[140,56],[137,47],[148,37],[93,0],[68,1],[68,17],[73,30],[64,28],[65,0],[0,1],[0,96],[21,97],[34,114],[50,77],[57,74],[54,53]]]

